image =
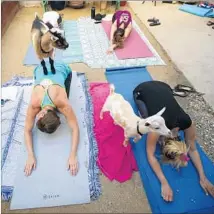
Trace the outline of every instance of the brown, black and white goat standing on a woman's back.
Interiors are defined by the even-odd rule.
[[[51,15],[49,15],[48,18],[51,19]],[[53,20],[56,20],[55,16],[53,16]],[[59,23],[56,24],[58,26]],[[31,28],[31,38],[33,47],[36,51],[36,55],[41,61],[41,65],[43,67],[45,75],[48,74],[48,71],[45,65],[44,58],[49,58],[51,71],[53,74],[55,74],[54,49],[58,48],[65,50],[69,46],[64,37],[64,31],[55,26],[56,25],[53,25],[53,22],[51,21],[46,24],[38,17],[37,14],[35,14],[35,19]]]

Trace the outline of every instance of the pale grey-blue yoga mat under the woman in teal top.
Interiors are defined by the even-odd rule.
[[[55,68],[57,72],[57,67]],[[17,176],[10,206],[12,210],[90,202],[89,136],[87,122],[85,122],[86,99],[77,73],[73,72],[69,102],[77,115],[80,128],[78,174],[71,176],[67,170],[72,144],[71,130],[65,117],[60,114],[61,125],[53,134],[42,133],[37,128],[33,130],[37,166],[29,177],[26,177],[23,172],[27,159],[27,152],[23,145],[18,158]]]

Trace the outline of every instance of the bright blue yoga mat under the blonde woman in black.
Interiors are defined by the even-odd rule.
[[[128,100],[134,111],[137,107],[132,91],[142,82],[152,81],[146,68],[107,69],[107,80],[115,85],[115,90]],[[206,196],[200,187],[195,167],[190,162],[188,167],[179,172],[169,165],[161,164],[161,168],[174,191],[174,201],[164,202],[161,197],[160,183],[153,173],[146,158],[146,135],[132,149],[138,164],[140,176],[153,213],[214,213],[214,199]],[[214,183],[214,164],[208,159],[197,144],[204,170],[208,179]],[[156,157],[160,159],[160,148],[157,146]]]

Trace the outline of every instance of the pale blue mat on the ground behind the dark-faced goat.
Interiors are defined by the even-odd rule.
[[[64,21],[63,28],[65,30],[65,37],[69,43],[69,47],[66,50],[56,49],[55,60],[63,61],[64,63],[76,63],[83,62],[82,45],[80,42],[79,30],[76,21]],[[45,59],[48,61],[48,59]],[[29,45],[27,53],[25,55],[24,65],[38,65],[40,64],[32,43]]]

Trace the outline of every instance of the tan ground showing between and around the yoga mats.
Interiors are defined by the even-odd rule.
[[[130,9],[131,10],[131,9]],[[34,12],[42,13],[41,8],[23,8],[16,15],[7,32],[2,38],[2,83],[11,79],[14,75],[32,76],[34,67],[22,65],[28,45],[30,43],[30,28],[34,18]],[[76,19],[80,16],[90,15],[90,6],[85,9],[73,10],[66,8],[64,19]],[[110,12],[108,10],[107,12]],[[153,47],[166,62],[166,66],[149,66],[148,70],[156,80],[165,81],[172,87],[177,83],[188,83],[181,72],[167,56],[166,52],[148,31],[141,20],[134,15]],[[91,69],[85,64],[71,64],[73,70],[85,72],[89,81],[106,81],[103,69]],[[179,100],[186,106],[188,100]],[[203,101],[201,101],[203,102]],[[139,173],[134,173],[133,178],[126,183],[110,182],[104,176],[100,176],[102,183],[102,196],[99,200],[90,204],[62,206],[56,208],[40,208],[32,210],[19,210],[13,213],[149,213],[151,212],[145,196]],[[9,203],[2,203],[3,213],[12,213]]]

